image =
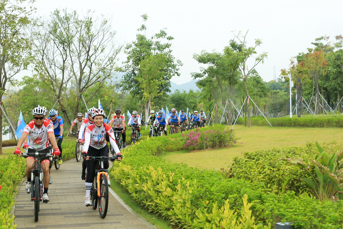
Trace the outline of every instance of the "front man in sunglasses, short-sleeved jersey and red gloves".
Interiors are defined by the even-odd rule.
[[[23,134],[18,141],[17,148],[14,151],[14,154],[18,156],[21,155],[20,146],[25,141],[28,134],[30,134],[30,142],[28,145],[28,153],[34,153],[38,151],[39,153],[49,153],[49,140],[53,146],[54,154],[59,156],[61,154],[58,145],[55,140],[54,130],[50,122],[45,120],[46,110],[43,107],[36,107],[32,110],[33,114],[33,121],[29,122],[23,130]],[[31,156],[26,158],[26,193],[31,193],[31,170],[33,169],[35,159]],[[42,158],[40,162],[42,165],[43,170],[43,202],[47,203],[49,201],[48,196],[48,188],[49,188],[49,176],[46,174],[49,173],[49,164],[50,164],[50,156],[46,156]]]

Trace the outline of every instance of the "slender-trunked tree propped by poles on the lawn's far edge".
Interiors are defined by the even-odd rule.
[[[238,56],[238,66],[241,72],[241,77],[244,82],[244,87],[246,91],[246,95],[249,96],[249,90],[247,87],[247,78],[249,77],[249,73],[253,70],[259,63],[264,63],[264,59],[267,58],[267,53],[262,52],[257,57],[254,57],[254,54],[257,54],[256,48],[262,44],[260,39],[255,39],[255,45],[248,46],[248,42],[246,41],[246,36],[248,31],[245,35],[242,35],[239,31],[237,35],[235,35],[236,39],[238,40],[231,40],[230,41],[230,48],[236,51]],[[253,59],[253,64],[251,67],[248,67],[248,60]],[[248,113],[248,127],[251,127],[251,117],[250,117],[250,105],[249,99],[247,99],[247,113]]]

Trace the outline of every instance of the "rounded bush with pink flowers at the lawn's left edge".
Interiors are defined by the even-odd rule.
[[[187,150],[204,150],[229,147],[236,143],[233,130],[227,126],[215,125],[212,128],[197,128],[182,133],[184,147]]]

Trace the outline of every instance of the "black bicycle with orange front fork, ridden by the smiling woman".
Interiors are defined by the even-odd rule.
[[[121,156],[121,155],[120,155]],[[91,188],[92,208],[95,210],[99,207],[99,214],[101,218],[105,218],[108,208],[108,174],[104,169],[104,160],[114,162],[117,160],[117,155],[113,157],[106,156],[89,156],[88,160],[97,160],[99,162],[98,168],[95,171],[95,177]],[[117,160],[119,161],[119,160]]]

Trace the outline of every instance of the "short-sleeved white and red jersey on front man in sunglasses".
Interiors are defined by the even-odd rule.
[[[42,127],[38,128],[32,120],[23,130],[23,133],[30,135],[28,148],[34,150],[45,150],[49,146],[48,133],[54,133],[49,121],[44,120]]]

